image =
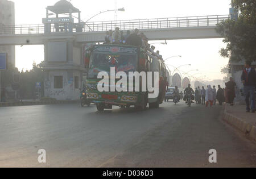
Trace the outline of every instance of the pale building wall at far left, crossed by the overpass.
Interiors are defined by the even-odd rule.
[[[0,0],[0,27],[13,26],[14,24],[14,2]],[[0,46],[0,53],[7,53],[7,58],[9,62],[15,65],[15,46]]]

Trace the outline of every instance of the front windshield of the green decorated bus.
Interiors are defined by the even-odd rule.
[[[90,59],[88,78],[97,79],[98,73],[107,72],[110,76],[110,68],[118,72],[135,72],[137,69],[137,53],[106,53],[93,52]]]

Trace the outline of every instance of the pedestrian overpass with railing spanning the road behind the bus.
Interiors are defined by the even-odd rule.
[[[216,24],[229,19],[230,15],[188,16],[181,18],[135,19],[83,23],[79,32],[56,32],[52,26],[49,33],[45,24],[0,27],[0,45],[38,45],[51,39],[73,39],[77,43],[102,42],[108,30],[119,27],[121,31],[138,28],[148,40],[221,38]],[[67,18],[59,18],[65,20]]]

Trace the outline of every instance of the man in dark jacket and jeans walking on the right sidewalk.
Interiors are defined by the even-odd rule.
[[[245,94],[246,112],[255,113],[255,86],[256,86],[256,72],[251,68],[251,62],[246,61],[245,69],[243,70],[241,80],[243,82],[243,92]],[[250,102],[249,102],[250,98]]]

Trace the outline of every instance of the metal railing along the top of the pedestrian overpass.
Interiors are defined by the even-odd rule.
[[[149,30],[160,28],[179,28],[179,27],[204,27],[216,26],[221,20],[229,19],[229,15],[209,15],[209,16],[188,16],[179,18],[159,18],[159,19],[134,19],[134,20],[116,20],[104,22],[88,22],[84,24],[82,32],[100,32],[114,30],[119,27],[120,30]],[[76,30],[74,29],[74,32]],[[55,32],[54,25],[51,26],[51,32]],[[8,34],[44,34],[44,24],[36,25],[15,25],[0,26],[0,35]]]

